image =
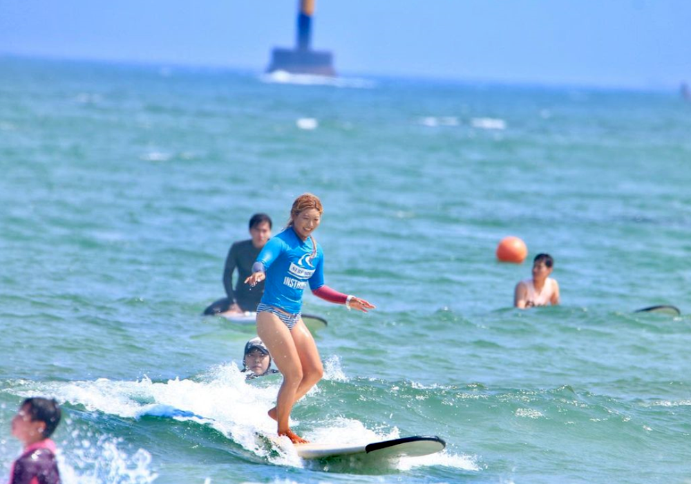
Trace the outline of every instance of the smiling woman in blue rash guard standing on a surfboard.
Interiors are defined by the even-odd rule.
[[[313,194],[296,198],[287,227],[267,242],[252,267],[253,274],[245,280],[254,286],[266,279],[257,307],[257,333],[283,375],[276,407],[269,416],[278,422],[278,435],[296,444],[307,440],[290,429],[290,411],[324,373],[314,338],[301,318],[304,289],[309,284],[312,294],[348,309],[366,313],[375,308],[364,299],[325,286],[324,254],[312,236],[322,214],[321,201]]]

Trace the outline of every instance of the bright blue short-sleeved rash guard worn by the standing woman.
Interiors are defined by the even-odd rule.
[[[324,252],[317,243],[316,256],[312,259],[312,241],[311,237],[303,241],[293,227],[287,227],[264,245],[256,260],[266,272],[263,304],[296,315],[301,312],[307,283],[311,290],[324,285]]]

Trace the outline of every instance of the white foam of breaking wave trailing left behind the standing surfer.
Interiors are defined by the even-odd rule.
[[[325,367],[328,380],[346,380],[337,357],[328,360]],[[158,416],[193,420],[213,427],[247,451],[276,465],[302,467],[303,460],[296,455],[287,438],[273,437],[276,422],[267,416],[267,411],[274,406],[280,384],[280,379],[270,377],[247,382],[238,366],[229,363],[215,366],[195,380],[176,378],[153,382],[144,377],[137,381],[100,378],[77,382],[15,382],[12,393],[28,396],[39,391],[59,402],[79,404],[88,411],[121,418]],[[318,392],[315,387],[306,398]],[[299,422],[292,420],[291,425],[299,425]],[[361,426],[359,422],[354,425]],[[330,422],[323,431],[325,435],[332,434]],[[269,436],[269,441],[258,436]]]

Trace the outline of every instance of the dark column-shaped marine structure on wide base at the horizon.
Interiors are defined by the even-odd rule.
[[[298,32],[294,49],[274,48],[267,72],[286,71],[291,74],[335,76],[333,56],[326,50],[312,50],[312,15],[314,0],[300,0]]]

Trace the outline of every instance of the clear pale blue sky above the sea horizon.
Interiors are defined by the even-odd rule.
[[[261,72],[297,0],[0,0],[0,55]],[[316,0],[342,75],[677,89],[691,0]],[[1,74],[1,73],[0,73]]]

